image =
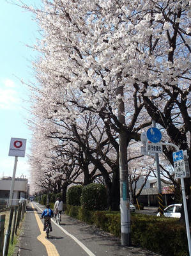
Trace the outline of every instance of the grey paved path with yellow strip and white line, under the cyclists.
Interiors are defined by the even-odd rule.
[[[43,205],[27,205],[20,234],[19,256],[157,256],[137,247],[123,247],[119,239],[92,225],[62,214],[61,225],[52,221],[53,231],[45,238],[40,215]]]

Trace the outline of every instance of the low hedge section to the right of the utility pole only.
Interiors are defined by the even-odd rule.
[[[188,253],[185,227],[174,218],[132,216],[132,241],[152,252],[166,256],[183,256]]]

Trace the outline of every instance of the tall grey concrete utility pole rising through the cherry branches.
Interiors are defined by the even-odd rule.
[[[120,74],[118,74],[119,80]],[[123,102],[123,86],[117,88],[118,119],[121,123],[119,131],[119,177],[120,177],[120,211],[121,211],[121,245],[131,246],[132,237],[130,230],[130,196],[128,188],[128,166],[127,166],[127,134],[125,126],[125,106]]]

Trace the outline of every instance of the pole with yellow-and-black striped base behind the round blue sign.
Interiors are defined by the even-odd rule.
[[[152,120],[153,127],[156,127],[155,120]],[[160,212],[160,216],[164,214],[164,204],[162,199],[162,186],[160,179],[160,166],[159,166],[159,157],[158,153],[155,153],[155,162],[157,167],[157,187],[158,187],[158,211]]]

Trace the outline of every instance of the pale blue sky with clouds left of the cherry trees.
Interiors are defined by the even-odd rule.
[[[39,3],[39,0],[31,3]],[[29,1],[27,1],[29,3]],[[31,13],[25,12],[16,5],[1,0],[0,8],[0,178],[12,176],[15,157],[8,156],[12,138],[27,139],[26,154],[29,154],[31,131],[27,128],[26,118],[30,114],[26,110],[26,83],[34,80],[31,60],[36,52],[26,47],[33,45],[38,36],[38,28],[32,20]],[[19,77],[19,78],[18,78]],[[18,157],[16,177],[26,175],[29,179],[29,166],[26,157]]]

